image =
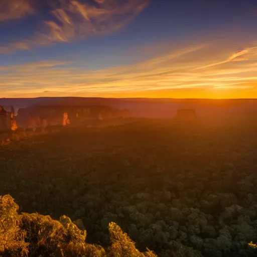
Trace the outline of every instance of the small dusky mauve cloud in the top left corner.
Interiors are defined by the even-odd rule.
[[[0,2],[0,23],[22,19],[33,13],[33,7],[28,0],[3,0]]]

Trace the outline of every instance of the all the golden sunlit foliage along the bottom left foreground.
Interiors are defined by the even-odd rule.
[[[38,213],[17,213],[19,206],[10,195],[0,196],[0,254],[6,256],[55,257],[157,257],[141,253],[135,243],[115,223],[109,224],[111,246],[86,243],[86,231],[67,216],[59,221]]]

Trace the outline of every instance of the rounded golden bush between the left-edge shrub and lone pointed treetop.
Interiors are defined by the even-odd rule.
[[[32,255],[77,256],[86,251],[86,231],[81,231],[71,220],[63,216],[60,221],[37,213],[21,215],[21,227],[27,231]]]

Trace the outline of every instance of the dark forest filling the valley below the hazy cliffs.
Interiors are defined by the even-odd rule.
[[[0,253],[73,256],[68,246],[42,250],[47,226],[82,245],[74,256],[256,256],[256,121],[144,119],[0,136],[0,216],[23,242],[14,253],[0,237]]]

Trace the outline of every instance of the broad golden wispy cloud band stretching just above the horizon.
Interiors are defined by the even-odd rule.
[[[176,48],[166,54],[127,66],[86,70],[73,63],[45,61],[0,67],[3,96],[173,96],[183,91],[198,95],[210,90],[255,92],[257,96],[256,48],[240,52],[223,49],[223,62],[216,62],[216,46],[200,44]],[[217,49],[216,49],[217,51]],[[230,53],[229,53],[230,52]],[[199,58],[200,55],[204,55]],[[228,57],[227,57],[228,56]],[[236,58],[245,59],[234,62]],[[213,61],[212,61],[213,60]],[[206,67],[206,62],[215,63]],[[250,90],[250,91],[249,91]],[[221,91],[217,91],[221,92]],[[213,91],[212,91],[213,93]],[[238,93],[239,95],[239,93]]]

